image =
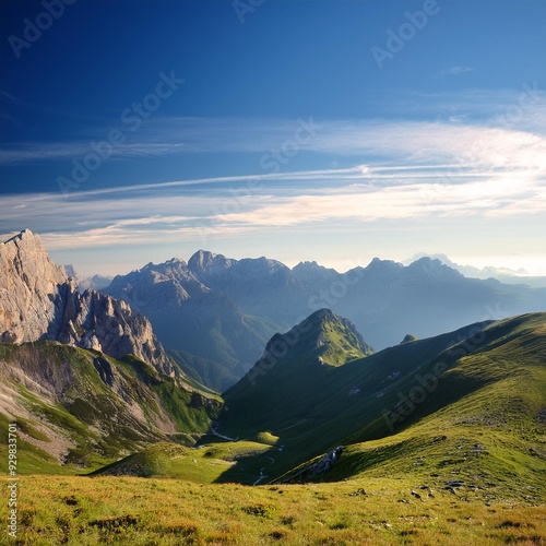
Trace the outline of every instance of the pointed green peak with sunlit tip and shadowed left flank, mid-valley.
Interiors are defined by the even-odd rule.
[[[358,361],[361,369],[367,367],[361,357],[371,353],[351,323],[317,311],[288,333],[274,335],[264,357],[224,393],[221,426],[228,436],[290,427],[323,402],[347,361]]]

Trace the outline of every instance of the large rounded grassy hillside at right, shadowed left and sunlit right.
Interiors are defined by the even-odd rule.
[[[545,313],[414,341],[329,373],[296,358],[254,385],[239,383],[237,397],[226,393],[219,429],[241,438],[259,429],[278,436],[284,449],[270,477],[344,444],[329,479],[370,468],[434,474],[443,465],[443,476],[458,468],[497,480],[524,475],[529,485],[545,470]],[[446,439],[432,441],[438,436]]]

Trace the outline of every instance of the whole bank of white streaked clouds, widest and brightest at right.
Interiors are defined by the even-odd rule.
[[[283,131],[292,127],[278,123],[263,133],[254,128],[259,138],[252,146],[269,145],[281,126]],[[462,122],[330,120],[317,126],[307,150],[336,155],[339,164],[351,166],[258,170],[67,195],[8,194],[0,203],[0,230],[31,227],[54,248],[67,248],[219,237],[268,226],[546,213],[546,136],[541,133]],[[229,146],[224,138],[209,144]],[[155,150],[170,153],[175,145]],[[144,153],[140,146],[132,152]],[[69,154],[57,145],[48,150]]]

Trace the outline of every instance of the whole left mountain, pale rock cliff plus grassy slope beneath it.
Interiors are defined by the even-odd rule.
[[[0,426],[21,423],[28,467],[94,466],[178,435],[193,443],[222,405],[144,316],[80,293],[29,230],[0,245]]]

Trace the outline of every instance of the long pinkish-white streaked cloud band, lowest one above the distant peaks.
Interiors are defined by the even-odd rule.
[[[40,230],[51,248],[153,242],[156,238],[214,237],[272,226],[406,221],[424,217],[529,217],[546,213],[543,178],[529,171],[461,169],[449,181],[443,168],[358,165],[347,169],[262,175],[259,191],[239,186],[214,192],[180,191],[188,181],[108,189],[70,195],[8,195],[0,226],[19,222]],[[232,178],[235,181],[235,177]],[[195,183],[199,181],[191,181]],[[284,182],[284,183],[280,183]],[[298,183],[305,185],[298,186]],[[312,182],[312,183],[307,183]],[[205,182],[206,183],[206,182]],[[85,210],[85,221],[81,211]]]

